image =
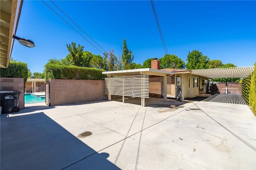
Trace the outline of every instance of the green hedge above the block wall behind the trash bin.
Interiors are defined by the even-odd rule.
[[[1,77],[24,78],[24,84],[28,79],[28,64],[20,61],[10,61],[8,68],[0,68]]]

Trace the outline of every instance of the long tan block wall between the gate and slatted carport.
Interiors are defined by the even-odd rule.
[[[50,80],[51,106],[103,99],[104,80]]]

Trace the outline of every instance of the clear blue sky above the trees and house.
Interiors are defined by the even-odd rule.
[[[44,2],[94,43],[52,2]],[[54,3],[104,50],[113,49],[117,57],[122,54],[124,38],[135,63],[143,64],[148,58],[161,58],[165,54],[148,0]],[[168,53],[185,63],[188,52],[193,50],[224,64],[252,66],[256,62],[256,1],[154,0],[154,6]],[[35,43],[34,48],[28,48],[15,41],[12,51],[12,57],[28,63],[31,72],[42,73],[51,58],[65,58],[66,44],[71,42],[102,55],[40,0],[24,0],[16,35]]]

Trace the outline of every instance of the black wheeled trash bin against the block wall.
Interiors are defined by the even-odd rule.
[[[12,113],[20,111],[19,95],[20,91],[0,91],[2,113]]]

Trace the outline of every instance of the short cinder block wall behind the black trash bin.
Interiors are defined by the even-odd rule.
[[[23,109],[24,104],[24,78],[4,78],[0,77],[1,91],[20,91],[19,107]]]

